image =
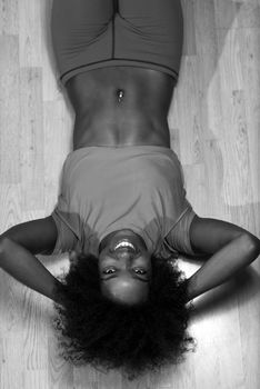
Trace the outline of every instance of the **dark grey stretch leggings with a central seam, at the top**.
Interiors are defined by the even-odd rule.
[[[53,0],[51,32],[63,84],[91,69],[134,66],[178,79],[180,0]]]

